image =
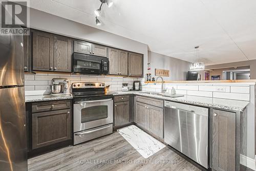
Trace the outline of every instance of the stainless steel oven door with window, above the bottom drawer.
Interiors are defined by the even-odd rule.
[[[113,99],[74,102],[74,133],[113,123]]]

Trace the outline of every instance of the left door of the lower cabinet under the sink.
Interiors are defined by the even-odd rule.
[[[147,105],[136,102],[136,123],[147,129]]]

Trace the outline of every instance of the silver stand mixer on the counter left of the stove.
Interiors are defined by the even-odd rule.
[[[70,94],[69,80],[66,78],[53,78],[51,94]]]

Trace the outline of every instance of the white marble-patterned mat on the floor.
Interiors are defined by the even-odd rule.
[[[165,147],[163,143],[148,135],[135,125],[117,130],[145,159]]]

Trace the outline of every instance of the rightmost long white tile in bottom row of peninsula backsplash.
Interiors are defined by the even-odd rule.
[[[250,101],[250,94],[214,92],[214,98]]]

